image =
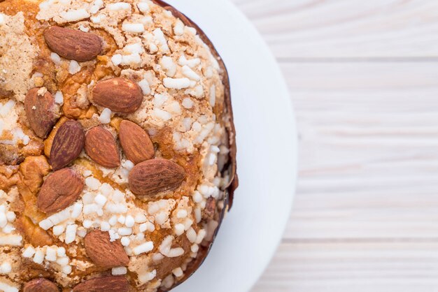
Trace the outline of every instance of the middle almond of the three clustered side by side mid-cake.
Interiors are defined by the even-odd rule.
[[[103,126],[95,126],[85,136],[85,152],[90,158],[106,168],[120,166],[117,143],[111,133]]]

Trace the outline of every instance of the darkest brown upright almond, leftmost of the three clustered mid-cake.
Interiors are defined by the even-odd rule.
[[[85,133],[82,125],[73,120],[62,124],[53,139],[49,163],[53,170],[67,166],[78,158],[85,145]]]

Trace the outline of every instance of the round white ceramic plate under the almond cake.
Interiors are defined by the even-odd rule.
[[[274,57],[227,0],[168,0],[209,36],[229,71],[240,187],[202,267],[176,292],[247,292],[281,240],[295,191],[297,132]]]

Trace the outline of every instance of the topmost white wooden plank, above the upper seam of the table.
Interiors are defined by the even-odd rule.
[[[234,2],[279,58],[438,57],[438,1]]]

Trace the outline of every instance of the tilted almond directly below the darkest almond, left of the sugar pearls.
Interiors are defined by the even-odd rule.
[[[36,206],[46,214],[59,212],[76,202],[83,188],[83,178],[74,170],[57,170],[44,181]]]

